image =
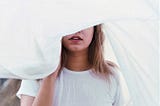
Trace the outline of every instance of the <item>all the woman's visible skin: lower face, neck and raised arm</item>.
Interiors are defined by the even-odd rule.
[[[74,71],[90,68],[88,47],[92,41],[93,32],[93,27],[90,27],[62,38],[62,44],[67,49],[66,68]],[[42,80],[37,97],[21,95],[21,106],[53,106],[54,86],[59,67],[60,65],[54,73]]]

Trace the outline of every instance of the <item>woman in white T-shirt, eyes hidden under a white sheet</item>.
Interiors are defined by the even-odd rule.
[[[123,76],[104,60],[103,42],[101,24],[64,36],[56,72],[40,84],[22,81],[21,106],[129,106]]]

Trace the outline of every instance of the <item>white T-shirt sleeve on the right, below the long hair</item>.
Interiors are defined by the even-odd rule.
[[[132,106],[131,97],[122,73],[117,70],[117,89],[114,96],[113,106]]]

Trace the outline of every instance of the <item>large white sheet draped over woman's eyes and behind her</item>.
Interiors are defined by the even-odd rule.
[[[105,22],[134,106],[158,106],[158,14],[158,0],[1,0],[0,78],[50,74],[62,36]]]

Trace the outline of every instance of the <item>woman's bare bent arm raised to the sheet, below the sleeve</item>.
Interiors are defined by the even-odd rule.
[[[36,97],[21,95],[21,106],[52,106],[57,73],[58,70],[42,80]]]

